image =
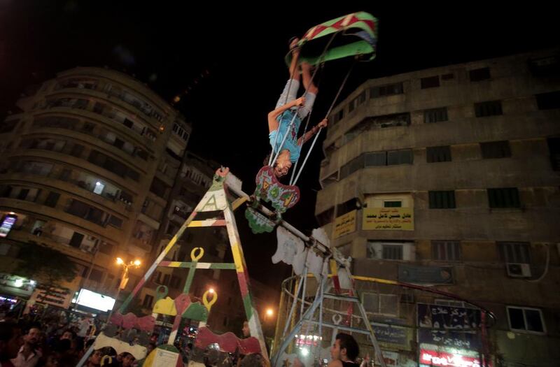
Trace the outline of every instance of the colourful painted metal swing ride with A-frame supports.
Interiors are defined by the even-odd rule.
[[[376,41],[377,20],[370,14],[360,12],[338,17],[335,20],[312,27],[298,42],[297,47],[300,48],[301,61],[320,67],[330,60],[346,57],[371,60],[375,57]],[[291,55],[289,53],[286,57],[288,64],[291,62]],[[316,67],[311,80],[315,78],[318,67]],[[335,106],[351,69],[350,67],[325,117],[330,115],[330,111]],[[307,132],[310,115],[307,117],[303,134]],[[280,123],[288,123],[288,131],[293,131],[293,134],[298,135],[300,121],[297,121],[297,113],[293,113],[289,122],[281,121]],[[320,131],[321,129],[319,129]],[[342,256],[337,248],[330,247],[328,236],[322,229],[316,229],[311,236],[306,236],[281,217],[286,210],[293,208],[300,199],[300,190],[296,183],[318,135],[315,135],[314,141],[299,169],[297,169],[299,157],[295,161],[288,185],[279,182],[273,169],[288,134],[283,136],[279,149],[274,150],[276,144],[273,145],[268,165],[262,167],[256,176],[256,188],[252,195],[248,195],[241,190],[241,182],[232,173],[229,173],[228,168],[218,169],[214,175],[213,184],[204,194],[200,203],[197,204],[193,213],[190,214],[173,238],[169,240],[167,246],[148,268],[144,277],[139,280],[118,312],[111,317],[109,324],[78,363],[78,366],[83,366],[94,349],[105,346],[112,346],[117,351],[131,352],[137,359],[144,359],[143,366],[146,367],[183,366],[181,352],[174,346],[174,342],[181,320],[190,319],[199,322],[197,338],[189,361],[189,365],[193,365],[193,367],[195,367],[195,364],[202,367],[204,350],[209,345],[216,343],[220,349],[218,353],[221,353],[220,356],[216,357],[216,364],[223,367],[231,367],[231,364],[228,364],[228,361],[230,361],[228,354],[230,353],[260,354],[267,366],[286,366],[290,361],[293,363],[295,358],[295,354],[291,353],[295,338],[298,335],[309,333],[314,333],[317,336],[311,352],[311,363],[314,363],[318,358],[322,359],[324,357],[324,350],[321,349],[323,334],[334,338],[338,330],[365,336],[367,343],[370,343],[373,347],[372,360],[379,366],[386,367],[379,341],[355,287],[358,277],[353,277],[350,273],[351,259]],[[276,138],[278,138],[278,135],[276,135]],[[300,149],[303,140],[301,139]],[[287,316],[283,319],[283,327],[281,327],[280,319],[277,322],[276,340],[279,340],[279,343],[276,343],[273,347],[274,356],[272,359],[269,359],[265,338],[255,310],[248,278],[248,268],[233,213],[234,210],[244,204],[246,206],[245,217],[253,233],[272,232],[276,229],[278,248],[276,254],[272,257],[272,261],[274,263],[283,261],[292,265],[295,273],[295,277],[292,279],[295,282],[291,282],[290,285],[286,282],[283,284],[282,297],[285,294],[287,297],[286,301],[281,301],[281,303],[287,310]],[[265,204],[271,206],[272,209]],[[208,215],[214,217],[202,220],[200,217],[197,218],[200,213],[205,213],[205,218]],[[203,226],[225,227],[228,232],[233,263],[201,261],[204,257],[202,247],[196,247],[191,252],[191,261],[165,260],[166,255],[186,230],[195,230]],[[157,300],[153,306],[152,315],[137,317],[132,313],[125,313],[134,296],[137,296],[139,290],[144,287],[158,266],[188,268],[183,292],[172,299],[167,296],[167,287],[160,286],[156,292]],[[193,302],[189,295],[195,273],[202,269],[235,271],[246,319],[251,330],[251,337],[239,339],[233,333],[216,335],[206,326],[211,307],[218,298],[217,292],[213,294],[206,292],[202,297],[202,303]],[[373,281],[385,282],[385,284],[391,282],[387,280]],[[399,287],[417,287],[398,282],[393,283],[393,285]],[[338,309],[335,309],[333,306],[335,303],[329,303],[329,300],[335,301],[339,305]],[[483,308],[480,309],[484,310]],[[484,310],[484,313],[491,317],[490,312]],[[155,320],[158,319],[159,315],[174,317],[172,331],[167,345],[159,345],[150,354],[146,355],[148,336],[153,332]],[[331,319],[325,319],[325,315],[332,317]],[[330,331],[323,333],[323,328]]]

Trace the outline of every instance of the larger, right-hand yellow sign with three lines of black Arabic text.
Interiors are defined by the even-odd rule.
[[[362,229],[414,231],[414,208],[364,208]]]

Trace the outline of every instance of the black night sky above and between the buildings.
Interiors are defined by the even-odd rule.
[[[244,191],[252,192],[269,150],[266,115],[288,77],[283,56],[291,36],[360,10],[379,19],[377,59],[358,64],[342,98],[368,78],[559,43],[556,12],[535,2],[505,8],[488,1],[439,6],[274,1],[266,10],[254,3],[0,0],[0,118],[25,87],[75,66],[106,65],[134,73],[167,101],[190,87],[176,106],[193,124],[190,150],[230,166],[244,180]],[[312,123],[325,114],[349,65],[325,66]],[[316,225],[321,159],[318,145],[298,182],[302,199],[285,215],[305,232]],[[237,217],[249,271],[265,278],[274,237],[250,235],[242,213]],[[262,257],[266,266],[251,266]]]

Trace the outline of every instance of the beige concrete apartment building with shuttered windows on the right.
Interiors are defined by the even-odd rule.
[[[353,257],[353,274],[432,287],[496,315],[491,325],[452,298],[365,291],[372,319],[410,331],[382,343],[395,363],[559,363],[559,55],[368,80],[333,110],[316,217]],[[464,327],[435,324],[451,311],[477,321],[433,337]]]

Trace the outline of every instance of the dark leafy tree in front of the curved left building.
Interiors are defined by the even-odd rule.
[[[33,278],[38,282],[38,287],[45,289],[43,300],[53,289],[60,288],[63,280],[71,282],[78,273],[78,266],[65,254],[36,243],[22,244],[18,259],[22,263],[16,272],[20,276]]]

